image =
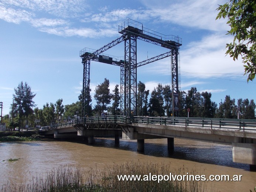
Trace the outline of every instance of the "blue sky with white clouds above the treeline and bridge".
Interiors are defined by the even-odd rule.
[[[218,4],[226,0],[0,0],[0,102],[3,116],[10,112],[14,88],[23,81],[36,95],[39,109],[63,99],[78,101],[82,89],[83,48],[99,49],[121,36],[118,26],[128,18],[164,35],[182,38],[179,49],[180,88],[210,92],[219,104],[231,99],[254,99],[256,82],[247,82],[242,59],[225,55],[233,37],[227,20],[215,20]],[[137,61],[167,52],[163,47],[137,42]],[[104,54],[124,56],[124,43]],[[140,66],[137,82],[150,92],[171,84],[170,57]],[[91,61],[91,96],[105,78],[110,92],[120,87],[120,67]],[[92,106],[94,106],[93,100]]]

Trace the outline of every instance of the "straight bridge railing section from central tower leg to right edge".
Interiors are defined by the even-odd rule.
[[[249,119],[210,119],[193,117],[142,117],[136,116],[132,119],[133,123],[147,123],[160,125],[193,126],[205,128],[232,128],[239,130],[255,130],[256,120]]]

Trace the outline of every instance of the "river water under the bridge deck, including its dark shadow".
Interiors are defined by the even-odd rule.
[[[178,144],[176,144],[175,141],[177,141]],[[137,152],[137,141],[135,140],[120,140],[120,143],[116,145],[115,140],[112,138],[95,138],[95,143],[91,144],[91,146]],[[250,170],[249,165],[247,164],[233,162],[232,146],[229,145],[174,139],[174,154],[169,154],[167,150],[167,139],[150,139],[145,140],[144,152],[141,154],[222,165],[240,168],[246,171]]]

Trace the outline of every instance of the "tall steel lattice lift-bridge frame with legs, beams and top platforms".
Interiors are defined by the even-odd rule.
[[[181,38],[149,30],[143,27],[142,23],[131,19],[119,25],[119,33],[122,34],[121,37],[98,50],[84,48],[80,51],[83,64],[82,117],[89,112],[91,60],[120,66],[120,112],[122,115],[131,116],[133,112],[136,116],[137,67],[171,56],[172,90],[173,93],[178,94],[178,49],[182,45]],[[137,62],[137,40],[165,47],[168,52]],[[121,42],[124,42],[124,59],[102,55],[104,51]],[[174,111],[173,114],[175,114]]]

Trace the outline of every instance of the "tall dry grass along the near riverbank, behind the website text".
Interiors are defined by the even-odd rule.
[[[206,185],[200,181],[119,181],[117,175],[186,175],[184,168],[172,170],[168,164],[127,162],[103,170],[62,166],[46,176],[33,177],[27,184],[2,186],[2,192],[200,192]],[[190,175],[196,173],[189,173]]]

